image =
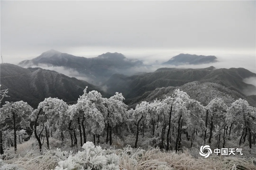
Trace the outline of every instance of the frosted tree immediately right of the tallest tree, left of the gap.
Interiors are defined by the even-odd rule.
[[[107,124],[107,135],[106,142],[112,145],[112,128],[116,125],[121,125],[123,122],[127,121],[127,105],[123,103],[122,93],[116,92],[114,96],[109,99],[105,99],[106,107],[108,112],[105,115],[105,123]]]

